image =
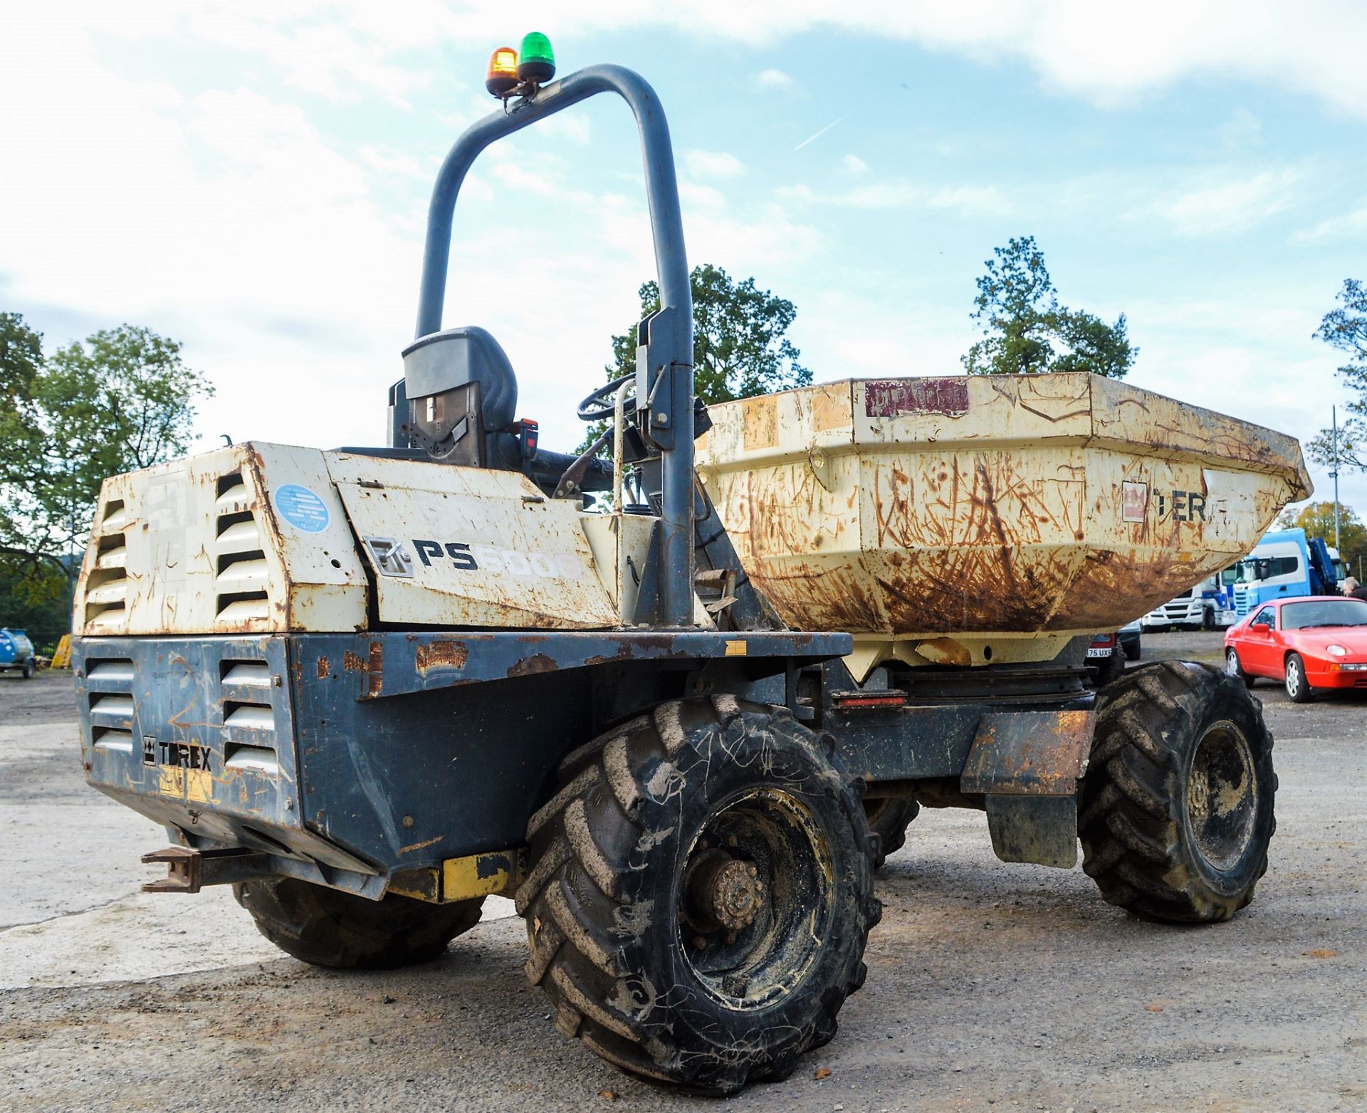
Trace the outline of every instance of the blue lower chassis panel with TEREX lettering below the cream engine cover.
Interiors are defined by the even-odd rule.
[[[849,651],[848,634],[794,632],[442,630],[77,639],[72,666],[86,778],[101,792],[193,845],[388,874],[519,845],[565,753],[685,695],[701,670],[707,690],[775,701],[775,677]],[[101,660],[131,669],[94,669]],[[265,662],[272,686],[224,684],[241,660]],[[101,695],[124,693],[131,712],[92,714]],[[234,747],[261,741],[224,726],[242,701],[271,707],[279,774],[226,768]],[[101,725],[128,730],[131,752],[93,745]],[[165,792],[161,742],[206,755],[211,800]]]

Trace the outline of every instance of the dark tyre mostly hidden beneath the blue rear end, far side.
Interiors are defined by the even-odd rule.
[[[257,930],[316,967],[394,969],[428,963],[480,922],[483,897],[451,904],[387,894],[370,901],[295,878],[232,886]]]

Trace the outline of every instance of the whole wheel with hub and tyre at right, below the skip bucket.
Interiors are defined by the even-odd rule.
[[[1228,920],[1267,870],[1275,794],[1273,736],[1243,681],[1189,662],[1132,669],[1098,699],[1083,868],[1137,916]]]

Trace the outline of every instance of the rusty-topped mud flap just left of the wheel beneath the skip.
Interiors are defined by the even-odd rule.
[[[1077,864],[1077,783],[1087,773],[1095,712],[983,715],[960,789],[983,793],[1002,861]]]

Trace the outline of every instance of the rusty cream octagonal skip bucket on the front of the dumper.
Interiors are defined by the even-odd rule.
[[[699,476],[785,621],[880,660],[1050,660],[1247,554],[1295,438],[1087,373],[848,379],[711,406]]]

